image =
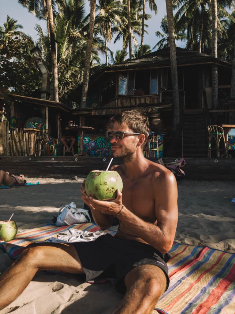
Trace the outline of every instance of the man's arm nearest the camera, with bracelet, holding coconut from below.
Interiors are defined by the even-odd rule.
[[[149,243],[159,252],[166,253],[173,244],[178,220],[177,184],[175,176],[170,171],[161,173],[160,177],[153,180],[156,180],[153,182],[155,223],[151,224],[142,220],[125,206],[118,215],[118,219],[128,225],[128,231]],[[119,192],[115,200],[117,203],[107,202],[106,206],[102,206],[104,205],[102,201],[94,199],[92,201],[99,203],[101,207],[97,209],[103,213],[117,215],[122,208],[121,196]]]

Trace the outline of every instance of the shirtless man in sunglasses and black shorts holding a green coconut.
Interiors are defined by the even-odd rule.
[[[123,192],[118,190],[115,200],[98,201],[88,198],[81,187],[82,199],[102,230],[118,217],[117,235],[26,248],[0,277],[0,309],[25,289],[38,270],[54,270],[85,273],[86,280],[112,273],[117,288],[125,292],[115,314],[151,313],[169,284],[165,260],[175,237],[178,212],[174,175],[143,156],[148,133],[147,118],[136,110],[114,117],[107,135],[113,156],[123,158],[123,164],[115,167],[123,179]]]

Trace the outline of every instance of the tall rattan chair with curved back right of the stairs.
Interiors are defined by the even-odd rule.
[[[224,137],[224,130],[219,125],[208,125],[207,127],[208,135],[209,135],[209,145],[208,145],[208,157],[211,157],[211,151],[216,150],[216,157],[220,157],[220,140],[222,139],[226,157],[228,157],[228,148],[226,145],[225,137]],[[214,147],[212,148],[212,144],[214,142]]]

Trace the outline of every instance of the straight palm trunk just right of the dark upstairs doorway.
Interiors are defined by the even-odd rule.
[[[212,56],[217,58],[217,0],[211,1],[212,9]],[[212,104],[218,107],[218,67],[212,66]]]

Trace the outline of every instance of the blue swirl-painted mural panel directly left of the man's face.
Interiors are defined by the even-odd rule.
[[[80,136],[78,136],[78,139],[77,139],[77,146],[79,150]],[[111,145],[104,135],[89,134],[89,135],[83,136],[82,156],[107,157],[107,156],[110,156],[110,154],[111,154]]]

